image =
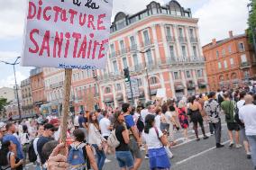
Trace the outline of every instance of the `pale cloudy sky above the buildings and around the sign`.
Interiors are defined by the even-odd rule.
[[[152,0],[114,0],[115,13],[137,13],[146,8]],[[201,46],[211,40],[228,37],[228,31],[241,34],[247,29],[249,0],[177,0],[184,8],[192,10],[192,16],[199,19]],[[0,1],[0,60],[13,62],[23,50],[23,26],[27,0]],[[129,3],[128,3],[129,2]],[[156,0],[160,4],[167,0]],[[12,66],[0,62],[0,87],[14,86]],[[29,76],[32,67],[16,67],[17,82]]]

